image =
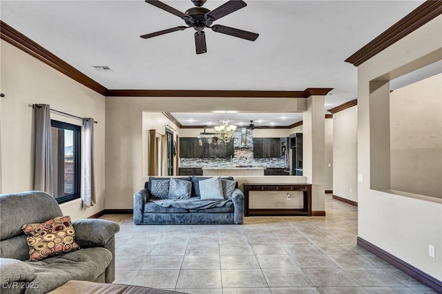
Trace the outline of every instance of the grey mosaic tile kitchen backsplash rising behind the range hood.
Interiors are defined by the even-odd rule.
[[[284,157],[253,158],[253,130],[238,128],[233,141],[233,158],[181,158],[180,167],[193,166],[258,166],[284,168]]]

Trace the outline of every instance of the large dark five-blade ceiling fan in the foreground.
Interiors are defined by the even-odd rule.
[[[232,12],[235,12],[236,10],[247,6],[247,4],[242,0],[227,1],[226,3],[222,4],[222,6],[218,6],[218,8],[215,8],[214,10],[209,10],[202,7],[204,3],[206,3],[206,0],[191,0],[196,7],[189,8],[184,13],[158,0],[145,1],[149,4],[152,4],[153,6],[156,6],[157,8],[166,10],[171,14],[175,14],[177,17],[183,19],[187,26],[176,26],[175,28],[168,28],[166,30],[151,32],[150,34],[140,36],[144,39],[168,34],[169,32],[176,32],[177,30],[186,30],[186,28],[193,28],[196,30],[196,54],[202,54],[207,52],[206,35],[204,32],[204,28],[211,28],[213,32],[220,32],[225,35],[230,35],[249,41],[255,41],[256,38],[258,38],[259,36],[254,32],[247,32],[247,30],[239,30],[238,28],[230,28],[228,26],[222,25],[211,26],[213,21],[216,21],[221,17],[225,17],[227,14],[231,14]]]

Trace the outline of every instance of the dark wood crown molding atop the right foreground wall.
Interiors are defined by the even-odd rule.
[[[442,1],[425,1],[421,6],[403,17],[403,19],[394,23],[393,26],[385,30],[381,35],[378,35],[378,37],[367,43],[363,48],[345,59],[345,62],[352,63],[354,66],[360,66],[368,59],[374,57],[374,55],[392,46],[392,44],[440,14],[442,14]]]

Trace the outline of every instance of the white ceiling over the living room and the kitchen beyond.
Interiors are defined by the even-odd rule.
[[[257,32],[258,39],[251,42],[206,29],[207,53],[202,55],[195,55],[191,29],[140,38],[184,26],[179,17],[142,0],[2,0],[0,17],[108,89],[334,88],[326,96],[327,110],[356,98],[356,68],[344,60],[423,3],[245,1],[247,7],[214,24]],[[208,0],[204,7],[213,10],[224,2]],[[193,7],[190,0],[164,3],[182,12]],[[92,66],[113,71],[99,72]],[[185,125],[196,114],[173,115]],[[206,113],[205,120],[218,121],[212,115]],[[276,122],[271,117],[278,116],[282,114],[262,119]],[[236,117],[246,122],[254,118]]]

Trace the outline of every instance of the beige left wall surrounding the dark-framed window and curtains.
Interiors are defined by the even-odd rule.
[[[79,117],[93,117],[95,124],[96,206],[81,208],[80,199],[61,204],[73,219],[89,217],[104,209],[104,131],[106,126],[102,95],[73,81],[57,70],[1,40],[1,193],[33,188],[33,116],[28,104],[50,107]],[[71,124],[81,120],[51,113]]]

